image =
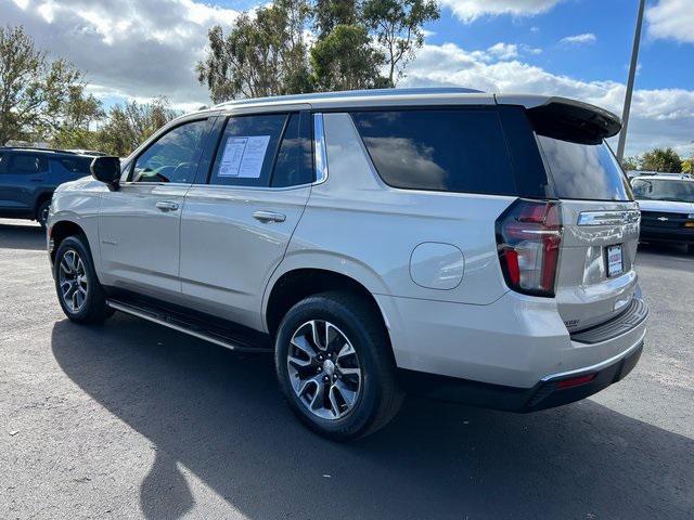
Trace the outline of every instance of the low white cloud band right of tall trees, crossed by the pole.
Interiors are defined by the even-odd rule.
[[[496,47],[496,46],[494,46]],[[425,44],[408,68],[402,87],[468,87],[486,92],[564,95],[621,115],[625,86],[617,81],[582,81],[552,74],[517,58],[466,51],[453,43]],[[637,90],[633,94],[627,153],[673,146],[689,156],[694,128],[694,91]]]

